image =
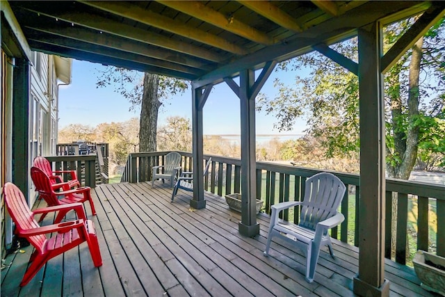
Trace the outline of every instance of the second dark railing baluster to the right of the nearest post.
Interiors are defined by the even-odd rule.
[[[405,265],[407,246],[408,195],[397,193],[396,262]]]

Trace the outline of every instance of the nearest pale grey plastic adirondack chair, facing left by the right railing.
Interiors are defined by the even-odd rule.
[[[337,209],[346,192],[341,180],[327,172],[318,173],[306,180],[305,198],[302,202],[282,202],[273,205],[269,235],[264,255],[268,255],[273,236],[295,244],[306,255],[306,280],[313,282],[320,248],[326,246],[334,257],[332,243],[327,232],[345,219]],[[301,205],[300,223],[286,224],[278,219],[280,211]]]

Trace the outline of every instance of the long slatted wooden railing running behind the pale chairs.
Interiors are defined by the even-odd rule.
[[[182,170],[193,171],[192,154],[180,152],[183,156]],[[151,179],[151,166],[162,165],[163,157],[168,152],[146,152],[130,154],[127,166],[122,175],[122,182],[145,182]],[[241,191],[241,160],[223,156],[204,155],[204,159],[212,158],[209,172],[204,177],[204,188],[211,193],[224,196]],[[205,161],[204,160],[204,161]],[[204,163],[203,161],[203,163]],[[325,170],[328,171],[328,170]],[[299,201],[305,192],[305,180],[321,170],[300,168],[277,163],[257,162],[257,195],[264,200],[267,214],[270,206],[283,201]],[[332,171],[328,171],[332,172]],[[332,237],[343,242],[358,246],[359,243],[359,175],[332,172],[348,187],[340,211],[345,220],[332,230]],[[445,186],[411,182],[401,179],[387,179],[387,204],[385,225],[385,257],[391,258],[391,216],[392,200],[397,204],[396,227],[396,262],[407,262],[407,248],[415,245],[417,249],[437,252],[445,256]],[[411,220],[416,225],[416,242],[407,244],[408,202],[415,204],[410,207]],[[417,209],[417,211],[414,211]],[[434,211],[435,209],[435,211]],[[284,220],[298,223],[298,207],[284,211]],[[437,221],[429,220],[430,215],[437,216]],[[436,236],[430,236],[436,230]],[[415,237],[415,236],[414,236]],[[434,248],[435,246],[435,248]]]

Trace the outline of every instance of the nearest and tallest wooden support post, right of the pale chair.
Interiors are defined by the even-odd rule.
[[[385,280],[385,109],[382,27],[359,29],[359,274],[354,293],[389,296]]]

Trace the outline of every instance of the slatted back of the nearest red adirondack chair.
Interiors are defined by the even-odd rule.
[[[20,234],[24,230],[35,229],[40,227],[40,225],[34,220],[33,213],[31,209],[29,209],[28,204],[26,204],[25,197],[20,191],[19,188],[15,184],[7,182],[3,188],[4,198],[6,202],[6,208],[8,212],[13,218],[15,223],[16,232]],[[44,245],[44,241],[46,241],[47,237],[44,234],[29,236],[28,241],[42,252],[42,248]]]

